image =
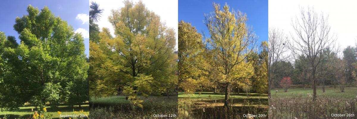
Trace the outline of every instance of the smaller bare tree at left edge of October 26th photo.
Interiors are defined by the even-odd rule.
[[[287,51],[285,46],[287,42],[287,37],[283,34],[282,31],[276,28],[269,29],[268,35],[268,97],[270,97],[273,86],[273,80],[275,75],[276,63],[287,58],[283,56]]]

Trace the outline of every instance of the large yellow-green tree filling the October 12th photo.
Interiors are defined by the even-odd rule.
[[[166,93],[169,98],[178,81],[174,29],[165,26],[142,1],[124,1],[123,8],[112,10],[109,21],[115,36],[103,28],[99,43],[90,41],[90,65],[98,77],[91,94],[109,96],[122,91],[132,103],[140,103],[138,93]]]

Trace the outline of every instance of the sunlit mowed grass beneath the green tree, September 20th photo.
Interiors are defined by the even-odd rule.
[[[34,106],[29,106],[29,105],[25,105],[23,107],[20,107],[20,109],[17,110],[5,110],[5,111],[0,111],[0,118],[3,118],[6,114],[6,116],[8,116],[8,119],[15,119],[15,118],[20,118],[20,119],[27,119],[32,118],[32,114],[34,112],[31,113],[31,109],[34,109],[34,111],[36,111]],[[51,108],[50,106],[46,106],[47,109],[47,113],[52,114],[52,118],[53,119],[59,119],[60,115],[57,113],[57,111],[61,111],[62,115],[78,115],[76,113],[73,112],[77,111],[79,113],[80,110],[83,110],[86,114],[89,114],[89,104],[85,104],[85,105],[81,105],[81,107],[79,107],[78,105],[74,106],[74,108],[72,108],[71,106],[59,106],[58,109],[56,108]],[[84,114],[84,113],[82,113]],[[67,118],[65,118],[67,119]]]

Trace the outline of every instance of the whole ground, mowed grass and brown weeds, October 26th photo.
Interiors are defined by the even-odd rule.
[[[311,88],[294,88],[284,92],[272,90],[269,100],[269,117],[271,119],[356,119],[357,87],[346,87],[345,92],[332,86],[323,92],[317,88],[317,98],[312,101]],[[346,114],[332,116],[331,114]],[[354,116],[347,116],[354,114]]]

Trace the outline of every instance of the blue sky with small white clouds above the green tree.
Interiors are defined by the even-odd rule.
[[[67,21],[75,32],[82,33],[85,54],[89,56],[89,1],[88,0],[1,0],[0,31],[6,36],[15,36],[20,43],[19,34],[14,30],[15,18],[27,15],[27,6],[32,5],[39,10],[47,6],[55,16]]]

